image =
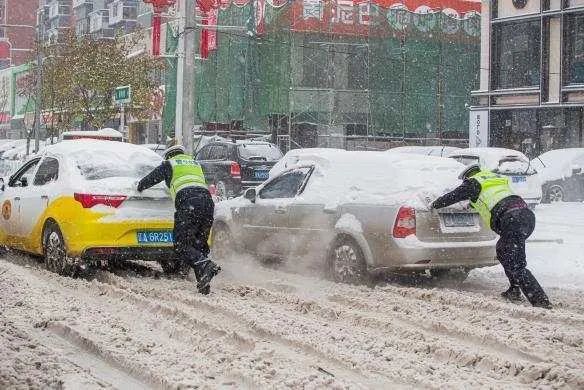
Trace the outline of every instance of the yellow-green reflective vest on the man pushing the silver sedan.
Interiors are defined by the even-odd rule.
[[[477,201],[471,201],[470,205],[478,211],[487,226],[491,227],[491,211],[493,207],[502,199],[514,195],[509,185],[509,178],[487,170],[481,170],[470,178],[475,179],[481,185],[481,193]]]

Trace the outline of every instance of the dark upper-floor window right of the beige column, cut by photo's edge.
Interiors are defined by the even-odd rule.
[[[584,14],[566,17],[564,84],[584,84]]]

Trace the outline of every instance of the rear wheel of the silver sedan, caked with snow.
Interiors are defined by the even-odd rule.
[[[367,267],[359,245],[351,239],[340,239],[332,248],[330,273],[336,282],[360,284],[365,282]]]

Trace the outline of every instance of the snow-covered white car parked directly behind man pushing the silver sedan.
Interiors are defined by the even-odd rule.
[[[526,155],[504,148],[467,148],[448,154],[465,165],[479,164],[481,168],[509,176],[511,188],[530,208],[541,202],[541,181]]]

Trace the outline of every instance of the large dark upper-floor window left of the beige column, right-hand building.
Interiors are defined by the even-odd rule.
[[[493,26],[493,86],[536,87],[540,83],[540,22]]]

